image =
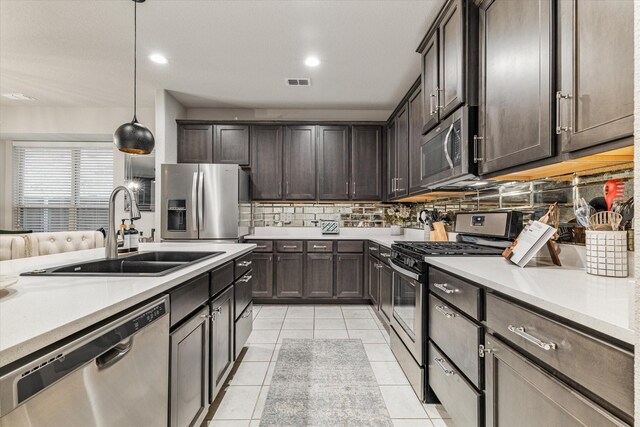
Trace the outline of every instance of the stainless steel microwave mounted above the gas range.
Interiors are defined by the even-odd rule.
[[[473,136],[477,107],[462,107],[427,133],[420,147],[420,178],[428,189],[471,184],[477,177]]]

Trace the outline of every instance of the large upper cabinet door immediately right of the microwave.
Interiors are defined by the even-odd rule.
[[[481,5],[481,174],[554,154],[553,4],[493,0]]]

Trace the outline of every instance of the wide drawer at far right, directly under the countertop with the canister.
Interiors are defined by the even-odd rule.
[[[633,414],[631,352],[493,294],[487,295],[487,326],[624,413]]]

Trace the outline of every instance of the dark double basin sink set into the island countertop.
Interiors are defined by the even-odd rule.
[[[156,277],[224,252],[140,252],[117,259],[100,259],[22,273],[22,276],[137,276]]]

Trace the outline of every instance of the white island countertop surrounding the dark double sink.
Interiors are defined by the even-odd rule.
[[[159,277],[21,276],[0,291],[0,366],[232,260],[253,244],[146,243],[140,251],[223,251]],[[3,275],[104,258],[104,248],[0,262]]]

